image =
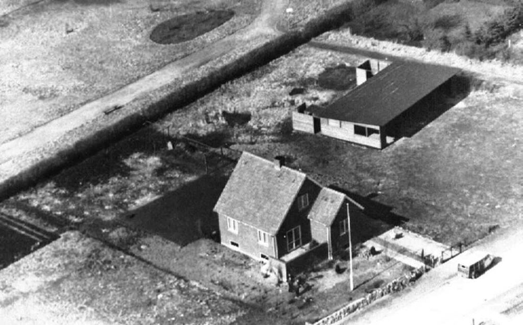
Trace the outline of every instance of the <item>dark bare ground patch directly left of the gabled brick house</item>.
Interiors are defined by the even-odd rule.
[[[185,246],[218,233],[218,217],[212,209],[226,177],[204,175],[150,203],[130,210],[119,221],[131,228],[155,233]]]

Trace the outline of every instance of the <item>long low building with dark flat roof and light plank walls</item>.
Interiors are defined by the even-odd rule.
[[[366,61],[357,68],[355,89],[327,107],[302,105],[293,111],[293,129],[383,149],[400,137],[403,121],[421,105],[453,95],[453,76],[459,71],[409,61]]]

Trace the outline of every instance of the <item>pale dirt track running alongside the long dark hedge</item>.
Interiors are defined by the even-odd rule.
[[[0,145],[0,182],[13,176],[23,167],[24,162],[16,161],[20,155],[46,147],[70,132],[104,114],[105,110],[130,103],[156,88],[160,88],[177,77],[183,76],[199,66],[219,58],[236,46],[256,39],[261,35],[276,35],[276,23],[285,12],[287,0],[265,0],[262,12],[255,21],[244,30],[226,37],[212,46],[188,55],[187,57],[166,65],[164,68],[143,77],[118,91],[101,97],[79,107],[70,114],[54,119],[25,135]]]

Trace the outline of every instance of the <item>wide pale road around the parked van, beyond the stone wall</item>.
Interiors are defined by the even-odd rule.
[[[523,229],[505,229],[474,246],[502,258],[477,279],[457,276],[457,260],[427,273],[408,292],[378,301],[340,324],[520,324]]]

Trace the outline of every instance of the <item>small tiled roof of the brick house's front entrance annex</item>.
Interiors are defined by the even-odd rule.
[[[359,203],[347,197],[345,194],[332,188],[322,188],[309,211],[309,219],[321,223],[324,226],[331,226],[339,209],[344,208],[343,203],[345,200],[350,201],[363,210],[363,207]]]

